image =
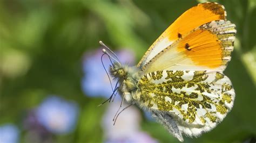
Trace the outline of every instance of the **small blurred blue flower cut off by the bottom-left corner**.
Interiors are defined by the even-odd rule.
[[[0,142],[16,143],[19,140],[19,130],[15,125],[5,124],[0,126]]]

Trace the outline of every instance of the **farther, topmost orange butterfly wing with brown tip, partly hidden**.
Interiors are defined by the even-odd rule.
[[[179,18],[175,20],[160,37],[150,46],[142,60],[138,63],[138,67],[142,68],[154,56],[174,41],[184,37],[194,28],[200,25],[212,22],[213,20],[225,20],[226,11],[223,5],[218,3],[200,3],[185,11]]]

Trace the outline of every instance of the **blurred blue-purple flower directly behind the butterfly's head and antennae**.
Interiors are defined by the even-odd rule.
[[[100,61],[102,51],[85,54],[83,61],[83,70],[85,76],[82,80],[82,88],[87,96],[95,97],[102,96],[108,98],[112,94],[109,78]],[[123,50],[116,53],[120,62],[132,65],[134,63],[134,54],[131,51]],[[111,62],[105,55],[103,58],[106,70],[109,70]],[[110,77],[111,78],[111,77]],[[112,82],[113,83],[113,82]],[[113,83],[114,86],[114,83]]]

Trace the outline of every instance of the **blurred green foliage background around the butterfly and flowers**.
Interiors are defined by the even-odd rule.
[[[105,98],[82,91],[83,55],[96,51],[102,40],[114,50],[132,49],[138,62],[167,26],[199,2],[204,1],[0,1],[0,125],[17,125],[19,141],[26,142],[27,112],[46,96],[60,95],[76,101],[80,112],[75,130],[53,134],[52,141],[103,142],[100,123],[107,105],[97,108]],[[232,60],[225,70],[235,102],[214,130],[185,142],[255,141],[256,1],[214,2],[225,6],[227,19],[237,26]],[[178,141],[154,121],[143,118],[140,125],[159,142]]]

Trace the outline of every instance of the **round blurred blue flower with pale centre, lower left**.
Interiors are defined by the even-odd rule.
[[[76,125],[78,105],[74,102],[51,96],[39,105],[36,116],[39,123],[50,132],[56,134],[69,133]]]

